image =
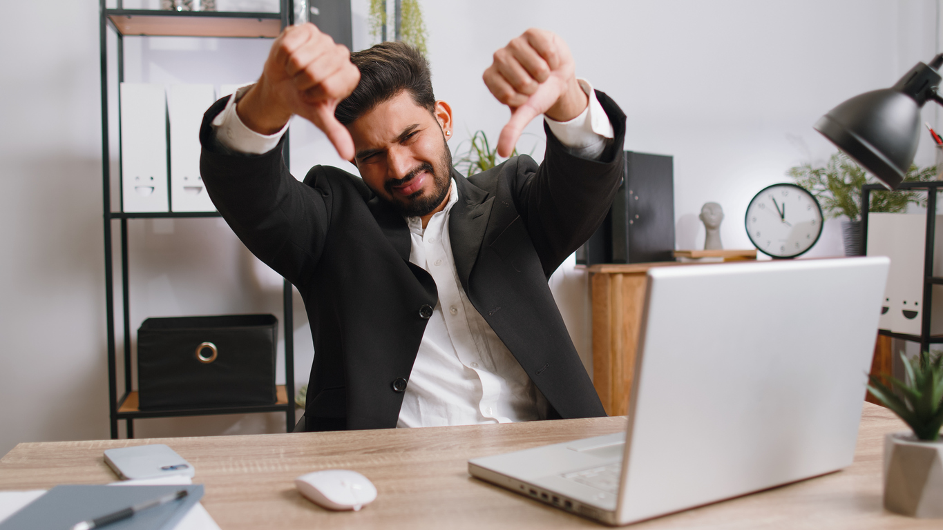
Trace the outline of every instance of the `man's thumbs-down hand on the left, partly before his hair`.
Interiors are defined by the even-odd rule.
[[[273,135],[297,114],[314,123],[344,160],[354,158],[354,140],[334,117],[341,100],[360,81],[350,50],[314,24],[292,25],[275,39],[258,82],[236,106],[240,120],[261,135]]]

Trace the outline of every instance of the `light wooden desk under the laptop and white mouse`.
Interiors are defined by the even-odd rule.
[[[0,490],[102,484],[115,475],[102,459],[111,447],[167,443],[196,468],[203,504],[223,530],[383,528],[602,528],[472,478],[469,458],[607,434],[625,418],[560,420],[305,434],[100,442],[21,443],[0,458]],[[882,447],[902,423],[865,404],[854,463],[835,473],[732,501],[638,523],[633,529],[936,528],[882,507]],[[328,468],[370,477],[379,496],[360,512],[329,512],[294,489],[294,477]]]

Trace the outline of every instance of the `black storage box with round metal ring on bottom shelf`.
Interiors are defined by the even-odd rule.
[[[275,403],[272,314],[148,318],[138,329],[141,410]]]

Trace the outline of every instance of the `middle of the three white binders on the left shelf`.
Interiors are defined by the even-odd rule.
[[[168,92],[171,124],[171,209],[174,212],[213,212],[200,177],[200,124],[215,101],[212,85],[171,85]]]

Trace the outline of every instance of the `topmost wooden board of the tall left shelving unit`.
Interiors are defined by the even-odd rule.
[[[282,31],[280,13],[107,9],[106,15],[125,36],[274,39]]]

